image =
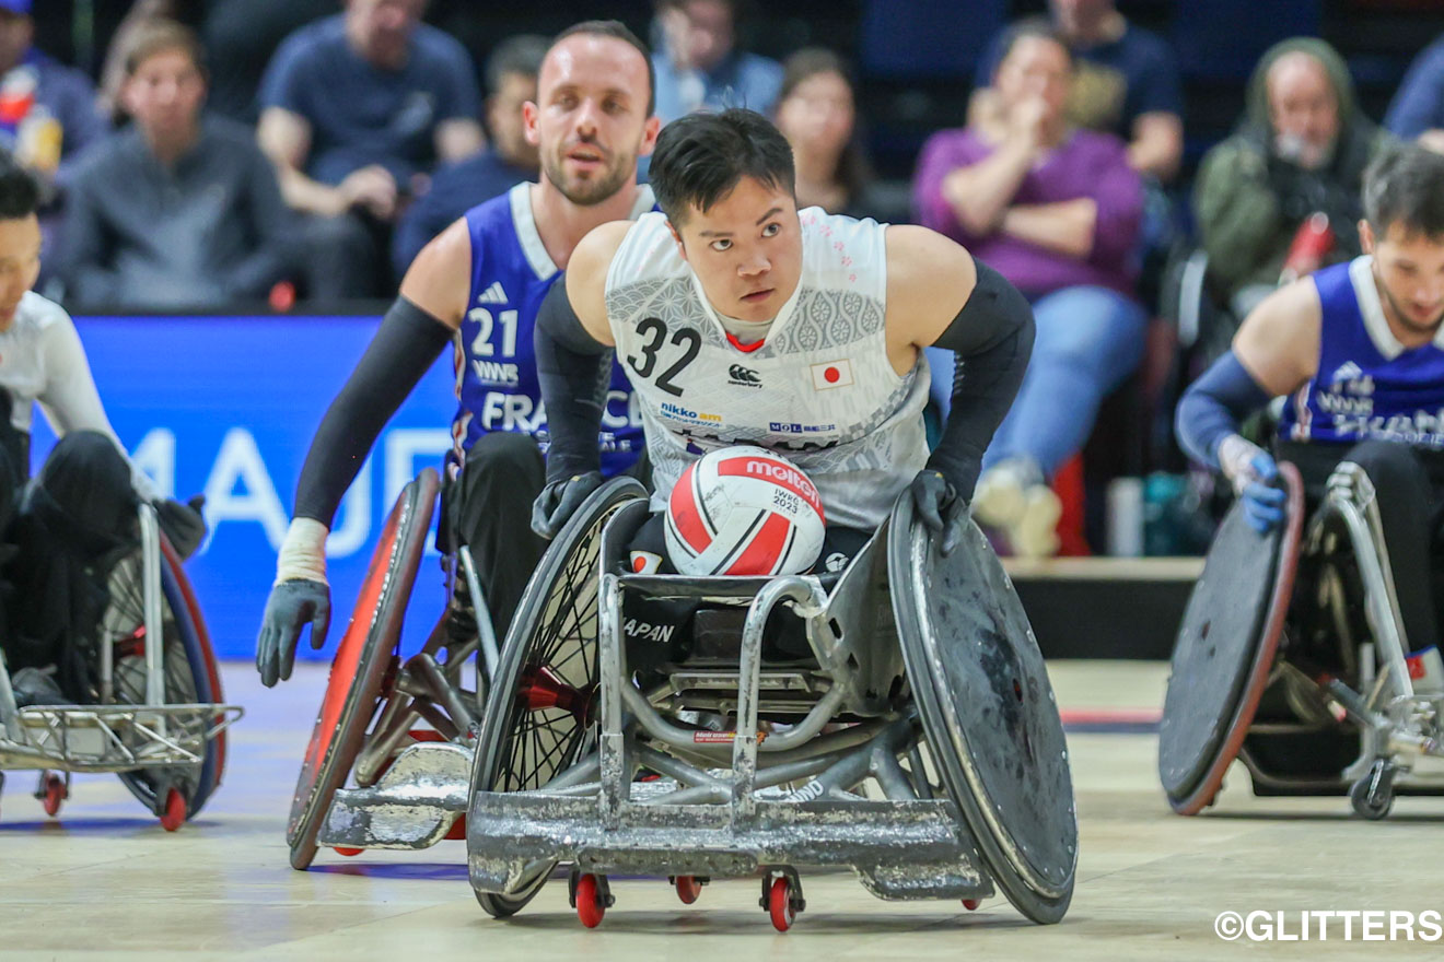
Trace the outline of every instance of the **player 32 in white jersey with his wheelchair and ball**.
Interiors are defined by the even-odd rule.
[[[780,930],[804,907],[803,865],[849,865],[885,899],[976,907],[996,883],[1035,922],[1067,910],[1061,723],[969,518],[1032,313],[939,234],[799,212],[794,180],[757,112],[673,121],[650,169],[660,212],[593,229],[537,314],[552,446],[531,524],[552,547],[507,636],[468,815],[472,887],[494,916],[557,862],[588,926],[612,871],[669,875],[683,901],[761,871]],[[928,346],[956,356],[931,451]],[[612,349],[650,496],[599,470]],[[559,747],[529,766],[527,733],[550,724]],[[643,769],[660,777],[635,783]],[[887,800],[864,796],[874,777]],[[937,838],[973,841],[933,847],[897,821],[934,818]]]

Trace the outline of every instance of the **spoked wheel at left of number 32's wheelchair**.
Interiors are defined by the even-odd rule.
[[[472,792],[539,789],[570,767],[593,740],[598,688],[602,528],[625,503],[645,498],[631,477],[614,477],[566,522],[542,555],[517,606],[487,698]],[[477,893],[494,919],[518,912],[553,865],[536,865],[510,893]]]

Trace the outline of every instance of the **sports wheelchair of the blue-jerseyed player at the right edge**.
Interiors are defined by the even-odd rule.
[[[1444,697],[1414,692],[1375,489],[1349,462],[1305,524],[1279,464],[1287,522],[1223,519],[1178,629],[1158,773],[1181,815],[1213,805],[1235,757],[1253,793],[1343,795],[1367,819],[1396,793],[1444,793]],[[1432,772],[1430,769],[1434,769]]]

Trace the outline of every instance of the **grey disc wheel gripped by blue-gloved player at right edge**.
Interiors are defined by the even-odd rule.
[[[1214,535],[1174,643],[1158,727],[1158,777],[1180,815],[1207,808],[1239,754],[1294,596],[1304,485],[1282,463],[1287,522],[1259,535],[1236,502]]]

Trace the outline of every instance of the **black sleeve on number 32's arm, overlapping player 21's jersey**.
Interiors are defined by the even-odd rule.
[[[547,482],[602,469],[596,434],[611,381],[612,352],[582,326],[566,296],[566,280],[552,284],[536,323],[537,381],[546,407],[550,446]]]

